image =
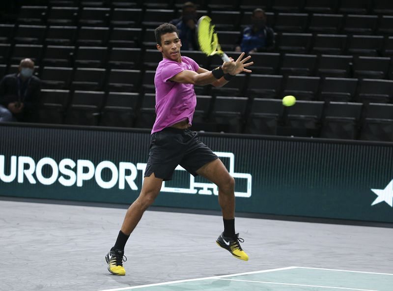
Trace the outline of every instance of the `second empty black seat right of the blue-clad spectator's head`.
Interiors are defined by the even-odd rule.
[[[313,13],[310,16],[309,32],[338,33],[342,26],[342,14]]]

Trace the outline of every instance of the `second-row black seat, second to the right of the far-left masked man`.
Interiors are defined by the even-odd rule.
[[[100,91],[104,84],[105,69],[76,68],[71,82],[75,90]]]

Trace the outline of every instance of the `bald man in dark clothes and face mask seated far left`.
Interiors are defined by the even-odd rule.
[[[37,121],[41,80],[33,76],[34,62],[25,58],[19,73],[9,74],[0,82],[0,122]]]

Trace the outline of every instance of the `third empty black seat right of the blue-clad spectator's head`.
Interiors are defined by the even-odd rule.
[[[370,35],[374,33],[378,21],[376,15],[356,15],[349,14],[345,16],[344,33]]]

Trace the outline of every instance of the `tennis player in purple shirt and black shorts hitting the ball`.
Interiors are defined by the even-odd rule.
[[[128,208],[116,242],[106,255],[108,270],[114,275],[125,275],[124,246],[140,221],[143,212],[160,193],[163,181],[170,180],[177,165],[192,175],[201,175],[219,189],[218,201],[222,208],[224,232],[216,242],[234,257],[248,261],[235,233],[235,180],[222,161],[201,143],[197,132],[190,130],[197,103],[194,86],[224,86],[241,72],[251,72],[245,63],[251,57],[244,53],[234,61],[224,62],[212,71],[200,68],[191,58],[180,54],[181,41],[176,27],[165,23],[155,29],[157,49],[163,60],[158,64],[154,83],[156,87],[156,120],[151,131],[149,158],[140,195]]]

